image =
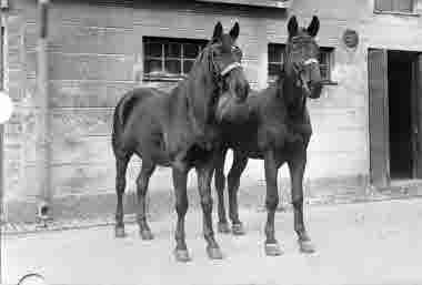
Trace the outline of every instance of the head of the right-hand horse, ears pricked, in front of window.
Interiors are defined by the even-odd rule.
[[[320,49],[315,35],[320,29],[318,17],[312,18],[308,28],[299,28],[293,16],[288,23],[289,42],[285,49],[284,73],[293,80],[302,93],[316,99],[321,95],[322,78],[320,73]]]

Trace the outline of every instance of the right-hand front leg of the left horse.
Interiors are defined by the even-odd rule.
[[[212,196],[211,196],[211,177],[214,170],[212,159],[197,166],[198,189],[201,197],[203,213],[203,236],[207,241],[207,253],[211,259],[221,259],[222,253],[215,242],[212,230]]]

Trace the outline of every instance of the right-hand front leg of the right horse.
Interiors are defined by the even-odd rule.
[[[303,253],[313,253],[314,246],[303,222],[303,174],[307,166],[307,152],[294,155],[288,162],[292,182],[292,204],[294,211],[294,231],[299,237],[300,250]]]

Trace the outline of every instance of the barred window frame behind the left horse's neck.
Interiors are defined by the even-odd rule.
[[[145,47],[149,43],[158,43],[161,44],[161,57],[154,57],[145,53]],[[191,61],[194,62],[195,58],[198,57],[199,52],[205,47],[208,43],[208,40],[204,39],[188,39],[188,38],[173,38],[173,37],[142,37],[142,45],[143,45],[143,52],[142,52],[142,64],[143,64],[143,74],[142,79],[143,81],[180,81],[182,79],[185,79],[189,72],[185,72],[183,70],[184,62]],[[180,47],[180,55],[179,57],[165,57],[165,45],[167,44],[178,44]],[[195,58],[187,58],[184,57],[184,47],[187,44],[194,44],[197,50]],[[147,72],[145,64],[148,60],[159,60],[161,61],[161,73],[159,74],[152,74],[151,72]],[[165,72],[165,61],[168,60],[174,60],[179,61],[179,73],[164,73]]]

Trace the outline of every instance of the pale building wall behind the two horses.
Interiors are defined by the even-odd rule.
[[[172,83],[134,81],[134,73],[142,72],[143,35],[209,39],[217,20],[225,29],[238,20],[247,75],[254,88],[262,89],[267,86],[268,43],[285,42],[290,14],[297,14],[301,24],[308,24],[318,14],[320,45],[335,48],[332,78],[338,85],[325,86],[321,100],[309,102],[314,136],[305,173],[308,184],[318,179],[360,177],[362,181],[363,177],[365,181],[368,176],[368,48],[422,50],[422,19],[373,14],[373,0],[293,0],[289,12],[171,1],[120,6],[83,2],[61,0],[51,4],[49,89],[54,197],[114,192],[110,145],[113,106],[134,85],[164,90],[172,86]],[[7,20],[6,86],[18,110],[6,128],[4,177],[9,202],[30,201],[38,194],[31,189],[37,133],[33,103],[37,7],[32,0],[13,3]],[[418,7],[422,10],[420,3]],[[356,50],[349,50],[341,42],[345,28],[359,32]],[[131,191],[139,165],[140,161],[134,160],[128,173]],[[261,183],[262,166],[262,162],[251,161],[242,184]],[[284,177],[283,167],[280,180]],[[190,183],[194,184],[194,175]],[[171,189],[169,170],[157,171],[150,187]]]

